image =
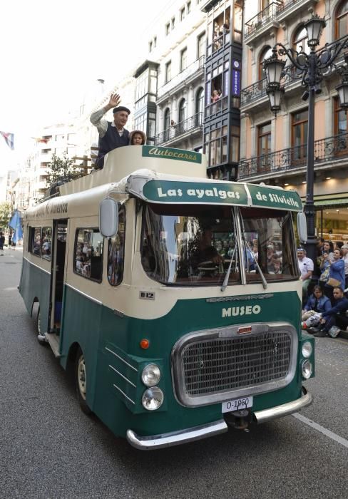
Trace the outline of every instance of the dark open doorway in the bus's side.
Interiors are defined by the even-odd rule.
[[[50,325],[51,331],[56,333],[61,327],[67,227],[68,220],[53,220]]]

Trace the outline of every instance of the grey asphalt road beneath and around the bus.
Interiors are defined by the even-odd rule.
[[[250,432],[140,452],[85,416],[0,257],[0,498],[346,498],[348,341],[317,339],[314,403]]]

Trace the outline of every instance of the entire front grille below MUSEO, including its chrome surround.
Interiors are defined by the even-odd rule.
[[[187,406],[205,405],[290,383],[297,354],[295,329],[290,324],[258,326],[253,328],[257,334],[238,335],[230,328],[180,340],[173,355],[178,400]]]

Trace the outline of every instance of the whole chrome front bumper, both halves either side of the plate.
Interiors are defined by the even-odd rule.
[[[255,421],[257,423],[265,423],[265,421],[289,416],[309,406],[312,403],[312,395],[304,387],[302,387],[302,392],[302,396],[295,401],[283,403],[281,406],[275,406],[263,411],[256,411],[254,413]],[[180,443],[193,442],[218,435],[219,433],[225,433],[226,431],[228,431],[228,426],[223,419],[220,419],[213,423],[180,431],[172,431],[171,433],[163,433],[162,435],[139,436],[133,430],[127,430],[127,440],[131,443],[131,446],[140,449],[140,451],[149,451],[150,449],[178,446]]]

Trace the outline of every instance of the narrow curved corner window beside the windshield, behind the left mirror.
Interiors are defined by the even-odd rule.
[[[118,286],[123,279],[124,253],[126,236],[126,210],[118,210],[118,232],[108,240],[108,282]]]

